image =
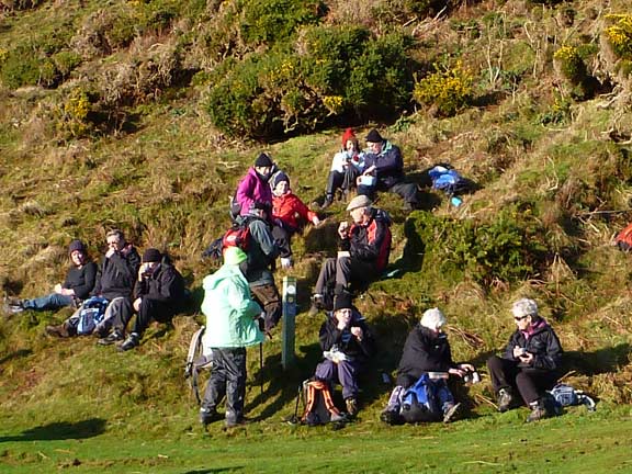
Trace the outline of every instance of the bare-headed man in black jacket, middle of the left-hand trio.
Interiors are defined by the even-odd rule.
[[[132,317],[132,291],[140,257],[132,244],[125,241],[123,232],[110,230],[106,234],[108,251],[101,260],[97,272],[94,289],[90,296],[100,296],[108,301],[103,321],[94,329],[94,335],[102,337],[101,345],[123,340],[125,325]],[[82,307],[59,326],[47,326],[46,334],[57,337],[77,335],[77,324]],[[119,321],[119,323],[117,323]],[[112,332],[108,331],[112,328]]]

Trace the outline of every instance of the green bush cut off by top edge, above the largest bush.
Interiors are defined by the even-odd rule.
[[[320,0],[242,0],[240,31],[249,45],[290,38],[302,25],[316,24],[327,12]]]

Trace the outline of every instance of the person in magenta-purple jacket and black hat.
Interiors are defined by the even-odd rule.
[[[234,212],[237,215],[248,215],[255,202],[261,202],[272,207],[272,190],[268,180],[272,176],[274,162],[270,155],[260,154],[255,161],[255,166],[248,169],[248,173],[239,181],[237,192],[232,207],[236,205]]]

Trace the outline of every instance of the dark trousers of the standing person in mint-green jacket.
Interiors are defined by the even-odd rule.
[[[226,397],[226,420],[239,422],[244,419],[246,399],[246,348],[213,349],[211,379],[204,392],[202,408],[216,411]]]

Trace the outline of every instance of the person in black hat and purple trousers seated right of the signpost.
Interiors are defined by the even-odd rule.
[[[320,348],[325,360],[316,366],[316,379],[342,385],[342,397],[350,416],[358,414],[358,374],[373,353],[373,336],[351,297],[336,297],[334,311],[320,327]]]

